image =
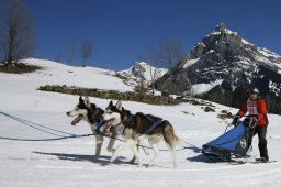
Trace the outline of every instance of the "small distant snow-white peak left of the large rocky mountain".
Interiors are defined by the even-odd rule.
[[[157,68],[145,62],[136,62],[134,66],[128,69],[117,72],[122,76],[128,78],[130,85],[138,85],[139,81],[144,80],[145,85],[151,84],[151,80],[157,80],[162,77],[168,69]]]

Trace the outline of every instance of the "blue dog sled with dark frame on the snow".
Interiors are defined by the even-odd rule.
[[[247,153],[251,150],[256,123],[257,119],[254,117],[238,121],[233,129],[204,144],[202,153],[211,160],[221,161],[249,156]]]

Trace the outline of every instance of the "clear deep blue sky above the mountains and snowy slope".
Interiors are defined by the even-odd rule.
[[[0,0],[2,2],[3,0]],[[146,45],[165,38],[186,53],[224,22],[241,37],[281,54],[281,1],[278,0],[25,0],[36,34],[35,56],[66,61],[85,38],[94,44],[89,66],[128,68]],[[76,63],[80,64],[78,52]]]

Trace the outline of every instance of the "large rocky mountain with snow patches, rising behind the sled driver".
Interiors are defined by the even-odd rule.
[[[183,96],[204,94],[207,96],[205,99],[211,100],[217,97],[222,101],[225,91],[232,95],[231,92],[239,87],[251,86],[258,87],[265,96],[270,92],[280,95],[281,57],[267,48],[247,42],[236,32],[220,24],[169,74],[160,78],[156,87],[165,90],[170,81],[173,94]],[[229,95],[223,98],[229,98]],[[231,102],[232,100],[228,99],[227,105]]]

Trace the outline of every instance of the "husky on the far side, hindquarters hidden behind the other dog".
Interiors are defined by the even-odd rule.
[[[102,121],[103,113],[104,111],[101,108],[95,107],[94,103],[91,103],[88,97],[86,97],[83,100],[81,96],[79,98],[79,103],[75,107],[75,109],[66,113],[68,117],[76,117],[71,122],[71,125],[76,125],[78,122],[80,122],[80,120],[85,120],[90,124],[92,133],[95,136],[97,141],[94,160],[98,160],[100,157],[101,146],[103,143],[103,136],[97,132],[97,125]],[[109,131],[109,127],[103,125],[102,128],[102,131]],[[115,142],[115,139],[113,139],[113,136],[116,136],[116,134],[113,133],[112,138],[110,139],[108,145],[109,152],[114,151],[113,144]]]

